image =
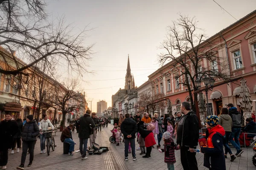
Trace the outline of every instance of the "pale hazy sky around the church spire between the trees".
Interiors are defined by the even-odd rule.
[[[217,2],[220,6],[218,6]],[[125,86],[128,54],[137,87],[160,67],[157,55],[166,27],[178,14],[196,17],[208,37],[255,10],[256,0],[49,0],[52,18],[65,16],[66,24],[87,32],[84,45],[95,44],[93,59],[83,74],[81,88],[96,112],[99,100],[111,106],[111,96]],[[228,14],[224,9],[227,10]],[[59,72],[65,72],[65,68]],[[65,74],[63,74],[65,76]],[[90,107],[90,102],[88,102]]]

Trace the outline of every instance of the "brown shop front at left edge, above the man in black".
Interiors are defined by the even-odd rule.
[[[15,119],[17,114],[22,111],[20,103],[17,102],[7,102],[0,104],[0,119],[3,120],[6,113],[10,113],[12,118]]]

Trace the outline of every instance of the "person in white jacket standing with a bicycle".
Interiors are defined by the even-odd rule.
[[[52,125],[51,121],[48,119],[48,116],[46,114],[43,114],[43,119],[39,123],[39,129],[40,129],[40,148],[41,152],[40,153],[46,153],[45,151],[45,141],[46,138],[44,137],[44,132],[49,130],[48,127],[51,127],[52,130],[54,130],[54,126]]]

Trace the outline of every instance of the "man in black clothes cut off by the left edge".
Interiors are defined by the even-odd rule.
[[[18,132],[18,125],[12,120],[11,113],[6,113],[5,119],[0,122],[0,167],[6,170],[8,162],[8,149],[12,147],[13,136]]]

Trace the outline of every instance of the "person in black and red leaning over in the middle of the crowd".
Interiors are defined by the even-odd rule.
[[[152,146],[157,144],[156,141],[154,140],[154,134],[151,130],[147,130],[145,128],[143,121],[140,121],[138,123],[138,131],[140,133],[140,136],[145,141],[146,154],[145,156],[143,156],[143,158],[151,157],[150,154],[151,154]]]

